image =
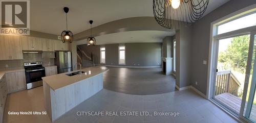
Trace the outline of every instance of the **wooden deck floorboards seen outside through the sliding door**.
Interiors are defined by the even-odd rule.
[[[239,114],[242,100],[230,93],[222,93],[215,96],[215,99],[226,105],[229,109]],[[246,107],[247,104],[245,104]],[[252,106],[250,118],[256,120],[256,105]],[[245,111],[244,111],[245,112]]]

